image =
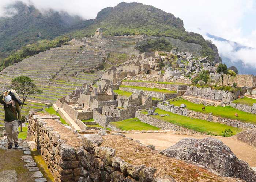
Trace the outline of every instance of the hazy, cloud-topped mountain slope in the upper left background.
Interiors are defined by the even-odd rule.
[[[13,11],[16,13],[12,13]],[[6,17],[0,17],[0,58],[27,44],[53,39],[90,23],[66,12],[48,10],[41,13],[33,5],[20,1],[5,8],[5,15]]]

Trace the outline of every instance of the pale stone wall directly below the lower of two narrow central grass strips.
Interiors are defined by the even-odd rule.
[[[132,92],[135,94],[138,94],[141,91],[139,89],[125,88],[125,87],[120,87],[119,89],[127,92]],[[151,96],[151,97],[159,98],[161,100],[167,100],[167,99],[172,99],[177,97],[177,94],[163,94],[161,92],[151,92],[151,91],[143,91],[143,94],[145,96]]]

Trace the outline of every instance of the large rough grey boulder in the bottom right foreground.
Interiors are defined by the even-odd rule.
[[[256,172],[239,160],[223,142],[215,138],[184,138],[163,151],[168,157],[190,160],[223,177],[235,177],[246,182],[256,181]]]

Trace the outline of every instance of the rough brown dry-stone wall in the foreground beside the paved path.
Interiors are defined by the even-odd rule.
[[[30,113],[28,137],[35,141],[37,150],[53,174],[54,181],[154,181],[151,173],[146,172],[153,168],[132,165],[116,157],[115,149],[100,146],[103,142],[101,135],[85,134],[81,138],[77,132],[67,128],[67,131],[63,132],[74,135],[80,142],[72,143],[65,140],[59,133],[59,127],[51,126],[53,122],[57,122],[57,125],[62,124],[59,120],[53,119],[49,115],[39,116]]]

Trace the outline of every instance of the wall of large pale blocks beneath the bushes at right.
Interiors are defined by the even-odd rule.
[[[221,103],[230,103],[231,101],[238,98],[240,91],[235,93],[223,90],[216,90],[212,88],[197,88],[193,86],[187,86],[187,91],[185,96],[192,96],[200,99],[207,99],[212,101],[217,101]]]

